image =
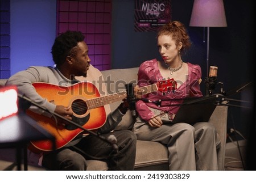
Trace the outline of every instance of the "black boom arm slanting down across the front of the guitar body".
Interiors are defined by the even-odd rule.
[[[44,111],[51,113],[54,116],[57,116],[65,121],[67,121],[69,124],[75,125],[77,126],[77,128],[80,128],[81,130],[84,130],[84,132],[92,134],[92,136],[98,137],[100,138],[102,141],[109,143],[109,145],[111,145],[113,147],[113,149],[118,153],[118,147],[117,147],[117,143],[114,139],[111,139],[111,141],[109,139],[106,139],[105,137],[100,136],[100,134],[94,133],[91,130],[85,129],[84,127],[82,127],[81,125],[77,124],[76,122],[73,122],[71,120],[68,120],[67,118],[55,113],[55,112],[51,112],[49,111],[47,108],[42,107],[42,105],[39,105],[37,103],[35,103],[34,101],[32,101],[30,98],[27,98],[24,95],[18,94],[18,97],[21,99],[24,99],[25,101],[28,101],[29,103],[31,103],[32,105],[35,105],[36,107],[43,109]],[[28,105],[27,105],[28,106]]]

